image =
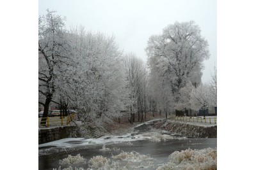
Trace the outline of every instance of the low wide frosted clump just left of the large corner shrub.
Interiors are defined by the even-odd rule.
[[[138,162],[141,160],[149,160],[152,159],[148,155],[141,155],[138,152],[124,152],[122,151],[120,154],[113,156],[114,159],[119,159],[119,160],[127,160],[131,162]]]

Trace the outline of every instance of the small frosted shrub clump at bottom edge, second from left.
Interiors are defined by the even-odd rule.
[[[109,167],[109,159],[102,157],[102,155],[93,157],[88,163],[90,164],[89,167],[92,169],[108,169]]]

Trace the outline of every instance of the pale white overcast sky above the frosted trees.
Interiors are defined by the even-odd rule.
[[[204,62],[202,81],[211,79],[217,67],[217,2],[216,0],[39,0],[39,15],[47,8],[67,17],[66,27],[83,25],[86,31],[115,35],[116,44],[124,52],[134,52],[147,60],[145,48],[153,34],[175,21],[194,20],[209,43],[211,57]]]

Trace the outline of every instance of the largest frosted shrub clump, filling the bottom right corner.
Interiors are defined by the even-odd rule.
[[[170,162],[157,168],[157,170],[169,169],[217,169],[217,150],[207,148],[204,150],[182,150],[173,152],[170,156]]]

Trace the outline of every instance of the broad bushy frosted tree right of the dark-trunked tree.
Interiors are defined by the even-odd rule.
[[[76,68],[65,84],[70,104],[77,108],[83,122],[101,124],[120,117],[124,110],[125,76],[122,52],[114,36],[72,29],[69,41]]]

